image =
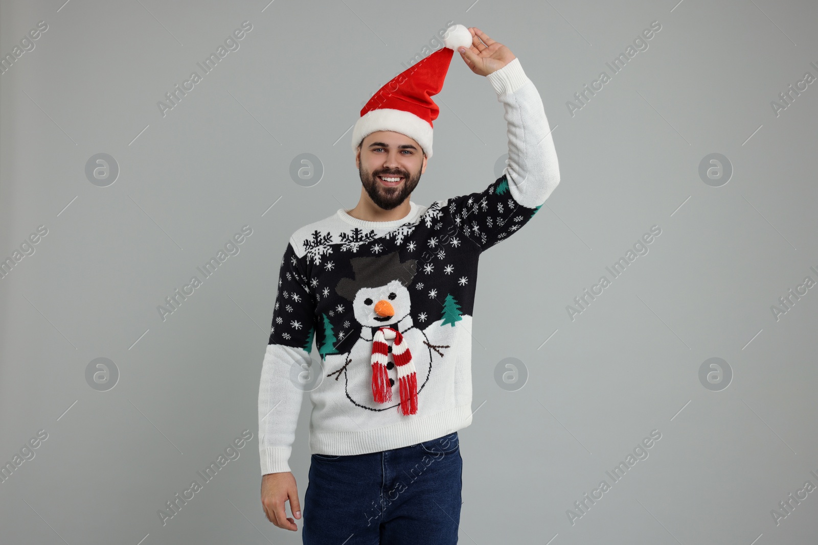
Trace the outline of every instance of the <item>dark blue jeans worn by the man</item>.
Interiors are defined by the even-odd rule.
[[[457,432],[377,453],[312,454],[303,543],[457,543],[462,486]]]

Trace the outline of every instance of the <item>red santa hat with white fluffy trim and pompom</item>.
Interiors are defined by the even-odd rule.
[[[426,157],[432,156],[432,122],[440,109],[432,101],[443,88],[454,50],[471,47],[472,36],[463,25],[447,29],[443,46],[404,70],[381,87],[361,109],[353,128],[353,152],[366,136],[377,131],[400,132],[415,139]]]

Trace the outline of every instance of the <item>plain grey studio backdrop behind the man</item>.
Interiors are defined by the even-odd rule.
[[[302,521],[276,528],[258,493],[281,255],[295,228],[357,203],[347,131],[448,20],[519,57],[562,180],[483,256],[461,543],[814,543],[818,492],[780,525],[771,509],[818,485],[818,295],[779,320],[771,306],[818,279],[818,83],[778,116],[771,101],[818,76],[815,2],[2,2],[0,55],[40,20],[0,75],[0,257],[48,230],[0,279],[0,461],[48,438],[0,483],[3,543],[301,543]],[[157,101],[244,20],[240,49],[163,117]],[[569,114],[654,20],[649,48]],[[419,204],[483,190],[506,153],[502,105],[458,56],[435,100]],[[107,187],[85,176],[98,153],[119,165]],[[290,178],[302,153],[324,170],[311,187]],[[711,153],[732,164],[726,185],[699,177]],[[245,225],[163,321],[164,297]],[[569,319],[654,225],[649,252]],[[100,357],[119,369],[108,391],[86,381]],[[495,381],[510,357],[528,373],[516,391]],[[699,382],[711,357],[733,372],[721,391]],[[305,396],[290,462],[302,501],[309,410]],[[240,458],[161,525],[245,429]],[[654,429],[649,458],[572,525]]]

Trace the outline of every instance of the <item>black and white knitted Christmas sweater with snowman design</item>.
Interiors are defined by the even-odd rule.
[[[340,208],[291,235],[258,390],[262,475],[290,471],[305,391],[311,453],[397,449],[470,425],[479,257],[530,221],[560,181],[542,99],[519,59],[487,78],[506,110],[503,176],[429,206],[410,200],[399,220],[363,221]],[[384,326],[402,333],[402,345],[388,341],[393,391],[376,402],[373,336]],[[320,360],[310,356],[313,338]],[[411,352],[416,413],[401,408],[393,342],[401,358],[404,345]]]

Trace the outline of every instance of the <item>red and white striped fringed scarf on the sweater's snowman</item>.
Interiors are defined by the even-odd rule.
[[[389,373],[386,370],[387,354],[392,341],[392,358],[398,368],[398,388],[401,392],[401,410],[403,414],[417,413],[417,377],[411,351],[403,335],[397,329],[378,328],[372,336],[372,395],[376,403],[392,400],[392,385],[389,384]]]

